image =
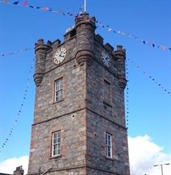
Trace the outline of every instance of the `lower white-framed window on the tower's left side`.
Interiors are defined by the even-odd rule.
[[[61,131],[52,133],[52,156],[60,155]]]

